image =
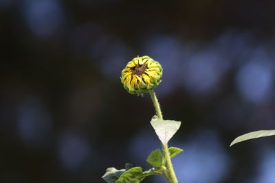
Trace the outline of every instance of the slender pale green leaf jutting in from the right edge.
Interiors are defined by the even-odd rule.
[[[242,141],[247,141],[253,138],[259,138],[259,137],[263,137],[263,136],[272,136],[275,135],[275,130],[259,130],[256,132],[250,132],[248,134],[243,134],[241,136],[238,136],[237,138],[234,139],[234,141],[232,141],[232,143],[230,144],[230,147],[236,143],[240,143]]]

